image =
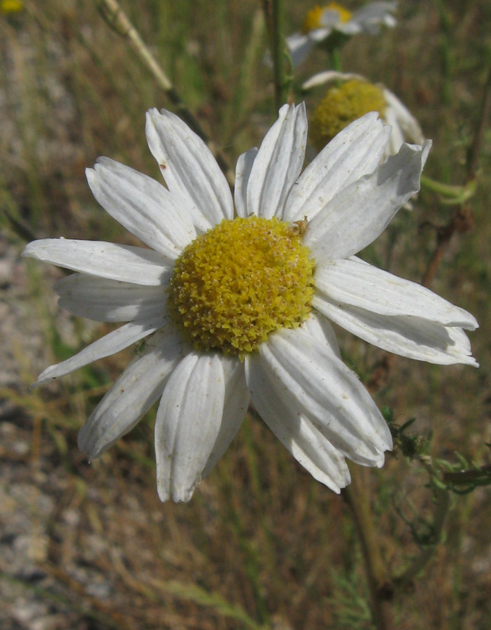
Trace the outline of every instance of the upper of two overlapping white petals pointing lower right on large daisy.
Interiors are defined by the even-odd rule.
[[[313,337],[283,329],[259,346],[276,392],[329,442],[360,463],[378,464],[392,448],[382,415],[357,376]],[[254,402],[254,398],[252,398]]]

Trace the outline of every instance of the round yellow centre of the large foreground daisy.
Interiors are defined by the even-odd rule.
[[[176,260],[167,307],[201,351],[245,354],[308,318],[315,262],[299,225],[257,216],[224,220]]]

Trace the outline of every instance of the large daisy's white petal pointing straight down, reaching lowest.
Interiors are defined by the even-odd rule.
[[[157,490],[189,501],[220,433],[225,401],[222,358],[189,353],[167,381],[155,421]]]

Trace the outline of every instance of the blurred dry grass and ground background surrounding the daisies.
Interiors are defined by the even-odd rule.
[[[176,90],[231,165],[276,118],[254,0],[121,0]],[[285,3],[285,30],[311,3]],[[358,8],[361,2],[346,2]],[[488,0],[401,0],[398,25],[342,50],[344,71],[383,82],[434,141],[425,174],[462,185],[491,62]],[[97,1],[25,1],[0,14],[0,606],[6,630],[373,628],[362,547],[345,498],[314,482],[255,418],[187,505],[155,489],[153,412],[93,463],[76,434],[131,350],[33,392],[46,365],[109,330],[57,309],[59,269],[20,260],[32,238],[134,239],[92,198],[99,155],[158,178],[144,114],[172,105]],[[299,86],[326,69],[316,50]],[[321,91],[322,92],[322,91]],[[307,107],[313,110],[314,95]],[[471,311],[471,367],[416,363],[340,334],[344,356],[392,421],[398,448],[355,493],[375,526],[384,605],[401,630],[488,630],[491,132],[462,207],[423,190],[364,252],[420,281],[441,229],[464,216],[431,288]],[[405,423],[410,426],[400,430]],[[397,429],[399,427],[399,430]],[[473,476],[474,475],[474,476]],[[455,490],[457,492],[455,492]]]

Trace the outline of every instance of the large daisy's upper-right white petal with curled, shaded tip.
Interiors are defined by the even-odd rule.
[[[374,241],[402,204],[420,190],[431,142],[403,144],[371,175],[353,182],[307,226],[304,244],[315,260],[348,258]]]

